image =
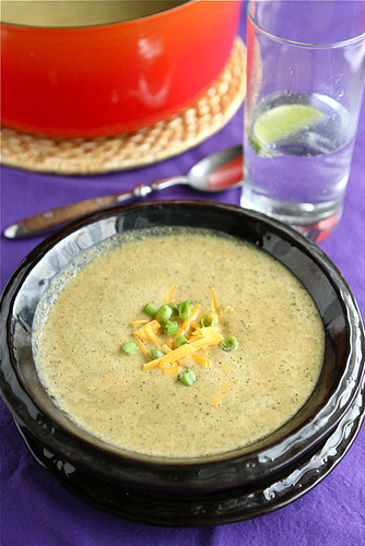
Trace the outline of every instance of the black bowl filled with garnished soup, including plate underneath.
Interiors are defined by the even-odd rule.
[[[24,260],[1,312],[2,396],[31,452],[127,518],[266,513],[321,479],[362,422],[345,281],[302,235],[233,205],[78,221]]]

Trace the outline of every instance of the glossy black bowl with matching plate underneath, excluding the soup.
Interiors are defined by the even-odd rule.
[[[165,225],[219,228],[261,248],[299,278],[321,314],[326,349],[313,395],[287,424],[244,449],[185,461],[131,454],[78,428],[38,381],[32,323],[52,277],[116,233]],[[31,452],[69,490],[125,518],[204,525],[270,512],[330,472],[364,417],[364,325],[346,282],[304,236],[238,206],[162,201],[85,216],[24,259],[3,290],[0,318],[1,395]]]

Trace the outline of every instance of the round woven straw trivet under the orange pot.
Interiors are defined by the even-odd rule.
[[[220,78],[197,104],[136,132],[96,139],[52,139],[1,129],[1,163],[59,175],[142,167],[178,155],[222,129],[246,93],[246,48],[235,39]]]

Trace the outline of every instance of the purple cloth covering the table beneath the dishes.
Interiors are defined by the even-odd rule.
[[[242,29],[245,27],[243,16]],[[243,31],[244,32],[244,31]],[[244,35],[244,34],[243,34]],[[128,173],[59,177],[1,169],[1,229],[45,209],[122,191],[136,183],[185,174],[221,147],[242,142],[243,111],[216,135],[178,157]],[[319,246],[338,265],[365,314],[365,100],[360,118],[344,214],[335,233]],[[155,195],[205,198],[188,188]],[[239,190],[216,195],[239,204]],[[1,289],[20,261],[40,238],[1,238]],[[298,500],[261,518],[201,529],[163,529],[133,523],[90,507],[49,477],[23,443],[9,411],[1,410],[2,546],[92,545],[301,545],[365,544],[365,429],[338,466]],[[331,455],[329,455],[331,456]]]

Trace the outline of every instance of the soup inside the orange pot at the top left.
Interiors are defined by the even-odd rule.
[[[1,21],[27,26],[75,27],[130,21],[187,0],[2,0]]]

